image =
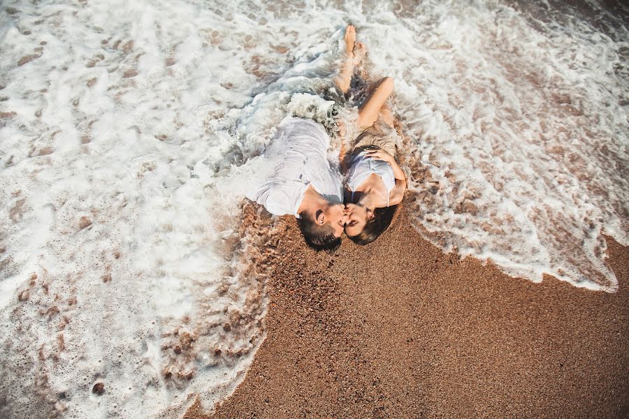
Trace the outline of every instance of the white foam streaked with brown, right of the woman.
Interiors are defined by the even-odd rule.
[[[628,43],[562,13],[542,23],[500,5],[436,2],[415,13],[403,37],[391,35],[387,61],[417,144],[411,161],[428,172],[411,182],[421,230],[514,276],[616,290],[601,234],[629,243],[619,101],[629,85],[614,72]]]

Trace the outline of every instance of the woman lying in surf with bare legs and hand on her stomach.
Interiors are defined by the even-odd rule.
[[[344,94],[349,90],[354,66],[365,56],[365,47],[356,43],[352,25],[345,31],[345,46],[347,59],[335,80]],[[393,91],[393,79],[383,78],[369,90],[372,93],[356,122],[361,134],[343,159],[347,168],[345,210],[349,216],[345,234],[358,244],[373,242],[389,227],[406,190],[406,177],[393,157],[395,141],[382,130],[393,128],[391,112],[384,107]]]

